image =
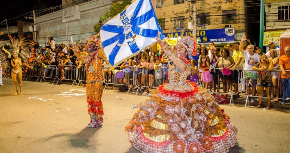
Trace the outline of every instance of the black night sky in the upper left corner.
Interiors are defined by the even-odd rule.
[[[56,5],[60,5],[62,0],[42,0],[47,7],[52,7]],[[0,23],[5,20],[5,18],[14,18],[21,14],[25,14],[27,12],[33,11],[33,6],[36,4],[37,0],[1,0],[0,6]],[[23,18],[22,16],[21,18]],[[8,26],[17,26],[17,21],[21,18],[17,18],[14,20],[8,21]],[[25,20],[25,19],[21,19]],[[16,22],[12,22],[16,21]],[[12,23],[9,23],[12,22]],[[0,28],[6,27],[5,25],[0,24]]]

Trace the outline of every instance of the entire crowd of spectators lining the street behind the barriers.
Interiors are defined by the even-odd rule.
[[[245,45],[246,42],[249,45]],[[55,65],[59,71],[59,80],[64,80],[65,70],[70,69],[72,65],[77,68],[82,65],[74,55],[71,46],[56,46],[52,37],[48,38],[45,49],[39,48],[37,41],[32,43],[35,49],[31,52],[33,60],[28,65],[28,77],[45,77],[47,65]],[[85,56],[87,53],[84,45],[79,44],[78,47]],[[213,42],[208,47],[197,44],[196,51],[190,57],[189,80],[211,92],[218,93],[222,84],[223,94],[234,93],[233,99],[237,99],[240,98],[240,92],[243,92],[251,97],[251,102],[255,102],[253,96],[262,96],[265,89],[269,97],[266,109],[270,109],[270,97],[274,102],[278,102],[281,98],[279,88],[281,78],[283,91],[281,94],[286,100],[280,104],[284,105],[290,100],[290,72],[286,71],[290,70],[289,49],[290,47],[286,47],[285,55],[280,57],[280,50],[277,51],[274,44],[269,44],[269,51],[262,52],[260,47],[252,45],[245,36],[241,42],[234,42],[233,48],[231,44],[227,44],[226,48],[222,49],[215,47]],[[106,63],[104,62],[104,80],[112,83],[115,69],[107,67]],[[147,95],[149,89],[167,83],[168,67],[168,59],[162,49],[152,51],[147,48],[120,65],[120,69],[124,72],[122,83],[132,85],[134,90],[140,87],[142,94]],[[242,70],[245,70],[244,73]],[[238,87],[239,85],[241,88]],[[258,98],[258,102],[257,108],[260,108],[261,98]]]

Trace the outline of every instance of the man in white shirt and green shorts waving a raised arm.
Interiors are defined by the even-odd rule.
[[[247,95],[250,95],[251,87],[252,86],[252,96],[256,95],[256,85],[257,85],[257,72],[256,71],[249,71],[252,69],[252,67],[257,64],[260,61],[259,55],[254,53],[254,45],[249,45],[247,47],[247,51],[244,50],[244,42],[247,41],[247,37],[243,36],[239,50],[244,54],[245,56],[245,68],[244,70],[244,79],[245,84],[247,86]],[[251,81],[252,83],[251,83]],[[251,97],[251,102],[255,102],[254,97]]]

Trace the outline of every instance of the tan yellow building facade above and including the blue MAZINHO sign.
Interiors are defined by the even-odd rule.
[[[193,4],[186,0],[156,0],[156,16],[168,38],[192,36],[192,11]],[[244,0],[197,0],[197,42],[214,42],[224,48],[227,43],[241,40],[245,35],[244,14]]]

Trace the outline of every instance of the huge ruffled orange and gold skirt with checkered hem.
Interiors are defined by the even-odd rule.
[[[189,83],[189,81],[188,81]],[[140,152],[229,152],[237,128],[214,97],[194,82],[191,92],[155,89],[126,127],[129,140]]]

